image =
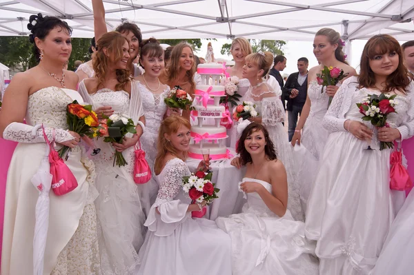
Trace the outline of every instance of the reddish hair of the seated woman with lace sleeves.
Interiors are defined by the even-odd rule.
[[[155,174],[161,173],[161,168],[164,165],[164,158],[168,153],[172,154],[173,156],[177,156],[177,158],[180,158],[177,149],[175,149],[170,141],[167,141],[164,135],[177,133],[181,126],[185,126],[188,128],[188,130],[190,130],[190,121],[184,119],[182,116],[168,116],[166,119],[164,119],[164,121],[162,121],[161,125],[159,126],[157,143],[158,152],[157,156],[155,157],[154,165]]]

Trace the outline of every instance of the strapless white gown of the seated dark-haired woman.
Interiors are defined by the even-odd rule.
[[[266,181],[242,181],[260,183],[272,192]],[[315,242],[306,240],[305,224],[295,221],[289,210],[277,216],[259,194],[248,193],[242,213],[218,217],[216,223],[231,237],[233,275],[318,274]]]

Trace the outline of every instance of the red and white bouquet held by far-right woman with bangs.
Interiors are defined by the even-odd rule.
[[[386,117],[388,114],[395,112],[394,107],[398,104],[394,100],[395,96],[397,94],[382,93],[379,96],[377,94],[368,94],[362,103],[357,103],[359,112],[364,114],[362,120],[371,121],[371,124],[377,128],[389,127],[388,123],[386,123]],[[393,148],[394,143],[381,141],[380,150],[384,150],[387,147]]]

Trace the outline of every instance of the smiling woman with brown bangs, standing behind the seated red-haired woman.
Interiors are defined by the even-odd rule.
[[[146,160],[154,175],[154,162],[157,154],[158,130],[167,112],[167,105],[164,102],[166,93],[170,91],[168,85],[161,84],[159,75],[164,71],[164,50],[155,38],[147,39],[142,43],[139,63],[144,68],[144,74],[135,79],[139,81],[138,90],[141,94],[142,105],[145,112],[146,131],[141,136],[141,145],[146,153]],[[178,114],[178,109],[170,109],[170,114]],[[152,176],[146,183],[146,196],[149,205],[144,205],[146,214],[157,196],[158,184]]]

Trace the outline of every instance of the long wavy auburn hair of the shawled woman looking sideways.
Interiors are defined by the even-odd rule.
[[[122,59],[122,57],[124,57],[122,47],[124,47],[125,42],[128,43],[129,50],[128,39],[122,36],[119,32],[107,32],[98,40],[98,50],[94,52],[92,56],[92,67],[95,71],[95,77],[98,80],[97,90],[100,86],[103,87],[103,82],[105,81],[106,74],[108,73],[109,63],[117,63]],[[110,57],[107,57],[103,52],[103,49],[105,48],[108,50],[110,56],[113,57],[113,61],[111,61]],[[128,66],[126,70],[117,70],[118,83],[115,85],[115,90],[125,90],[126,85],[131,80],[132,78],[130,77],[130,70],[128,70]]]

